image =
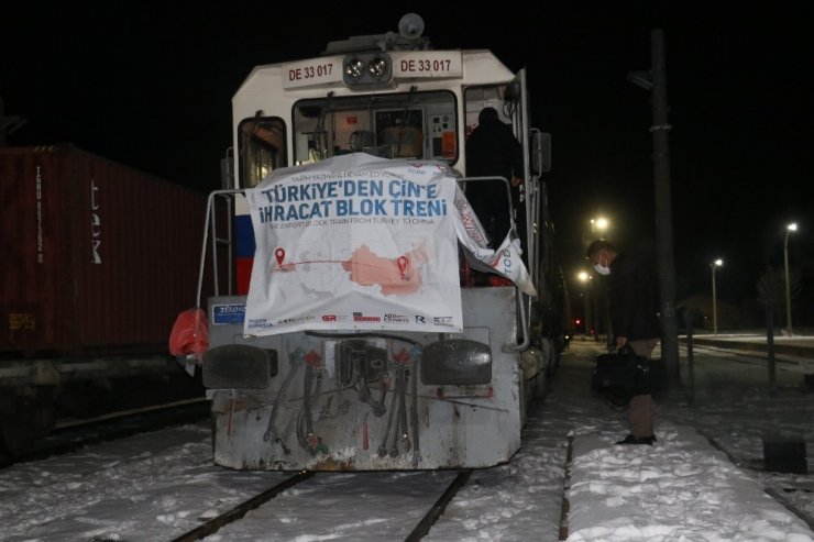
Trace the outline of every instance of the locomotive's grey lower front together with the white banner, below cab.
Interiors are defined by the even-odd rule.
[[[246,296],[209,300],[216,462],[484,467],[519,446],[516,241],[496,252],[449,166],[353,153],[246,192]],[[480,235],[480,237],[479,237]],[[505,281],[461,287],[459,251]],[[507,263],[512,261],[512,263]],[[528,285],[527,287],[530,287]]]

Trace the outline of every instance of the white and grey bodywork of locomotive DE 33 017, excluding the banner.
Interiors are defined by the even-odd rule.
[[[260,66],[233,98],[234,153],[224,189],[210,196],[210,212],[221,204],[234,220],[209,221],[210,245],[201,252],[201,268],[211,243],[226,243],[233,254],[232,290],[206,303],[202,372],[217,464],[282,471],[492,466],[519,449],[526,406],[544,394],[561,343],[543,316],[556,305],[541,262],[552,254],[542,250],[550,233],[541,222],[547,140],[529,126],[525,70],[513,74],[488,51],[432,51],[415,22],[403,19],[400,36],[333,42],[318,58]],[[526,266],[534,288],[495,273],[508,252],[496,251],[484,264],[461,246],[454,264],[460,329],[354,325],[356,314],[365,318],[354,312],[323,314],[312,328],[248,332],[258,262],[271,262],[265,273],[292,269],[284,268],[285,252],[257,240],[261,218],[246,193],[268,189],[280,172],[354,153],[413,161],[419,170],[447,167],[464,193],[468,182],[480,181],[508,190],[508,179],[465,176],[466,135],[483,107],[498,109],[524,146],[522,206],[507,209],[516,226],[501,248],[522,247],[522,263],[513,262]],[[399,259],[394,256],[394,265]],[[271,303],[263,313],[270,327],[294,320],[276,311]],[[382,321],[411,314],[397,301],[385,312]]]

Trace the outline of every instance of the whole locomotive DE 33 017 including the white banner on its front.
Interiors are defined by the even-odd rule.
[[[229,258],[230,287],[204,307],[199,279],[197,347],[175,352],[201,365],[216,464],[487,467],[519,449],[568,305],[542,180],[550,139],[528,102],[525,69],[432,48],[416,14],[252,70],[200,255],[199,277]],[[509,190],[466,177],[485,107],[524,150],[521,207],[494,250],[465,199],[473,182]]]

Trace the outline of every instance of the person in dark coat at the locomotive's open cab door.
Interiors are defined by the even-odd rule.
[[[484,108],[477,126],[466,141],[468,177],[505,177],[512,185],[513,207],[519,204],[522,178],[522,145],[512,126],[501,121],[495,108]],[[512,225],[506,187],[493,180],[466,184],[466,199],[496,248]]]

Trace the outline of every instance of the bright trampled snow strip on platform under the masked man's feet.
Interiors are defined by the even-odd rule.
[[[755,480],[692,429],[663,423],[659,446],[574,441],[569,541],[812,540]]]

